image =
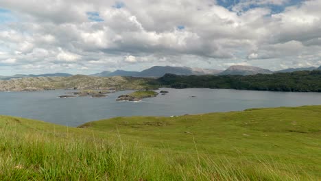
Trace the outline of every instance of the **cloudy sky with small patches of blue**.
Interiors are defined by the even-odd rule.
[[[321,65],[321,0],[0,0],[0,75]]]

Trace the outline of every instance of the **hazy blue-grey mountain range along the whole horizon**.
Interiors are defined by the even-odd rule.
[[[176,75],[255,75],[255,74],[272,74],[272,73],[290,73],[294,71],[312,71],[314,69],[321,70],[320,67],[303,67],[303,68],[291,68],[280,71],[270,71],[268,69],[261,69],[259,67],[233,65],[228,67],[225,71],[216,69],[200,69],[200,68],[189,68],[189,67],[171,67],[171,66],[154,66],[150,69],[143,71],[102,71],[101,73],[95,73],[91,76],[95,77],[112,77],[112,76],[126,76],[126,77],[162,77],[166,73]],[[72,74],[69,73],[46,73],[40,75],[34,74],[16,74],[12,76],[0,76],[0,80],[10,80],[12,78],[22,77],[70,77]]]

